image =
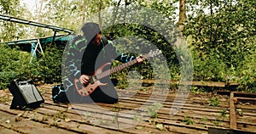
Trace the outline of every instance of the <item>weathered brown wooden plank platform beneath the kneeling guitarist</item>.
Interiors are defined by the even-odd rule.
[[[237,92],[190,92],[184,101],[174,91],[117,89],[119,103],[71,104],[53,103],[51,87],[38,86],[45,102],[32,110],[9,109],[12,94],[0,90],[0,133],[256,133],[256,105],[247,102],[255,98]]]

